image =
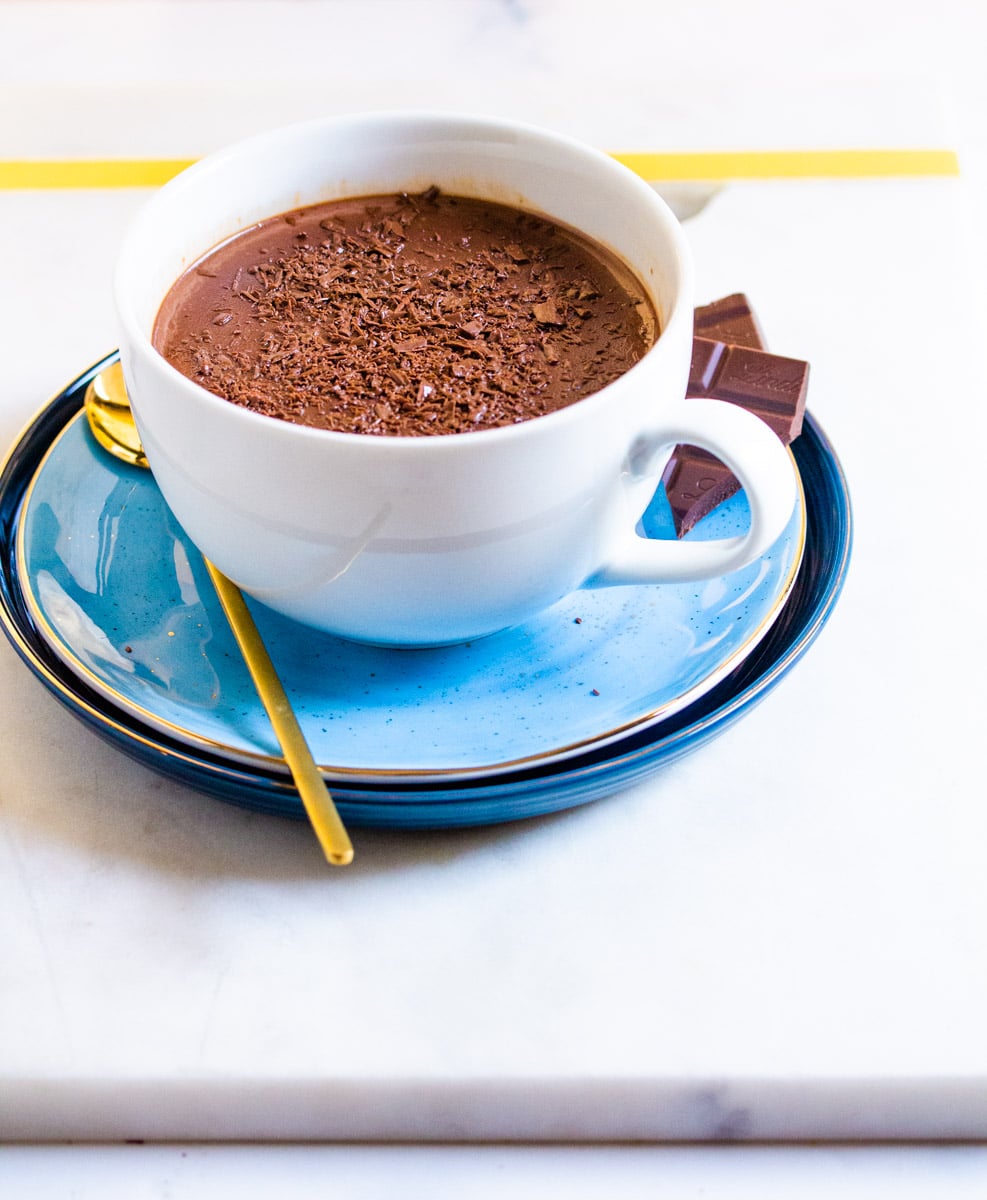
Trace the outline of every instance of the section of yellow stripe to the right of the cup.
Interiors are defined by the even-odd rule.
[[[645,179],[873,179],[958,175],[952,150],[723,150],[617,154]]]

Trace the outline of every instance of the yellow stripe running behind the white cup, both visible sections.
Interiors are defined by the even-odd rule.
[[[722,150],[614,157],[650,180],[875,179],[958,175],[952,150]],[[158,187],[191,158],[0,158],[0,190]]]

